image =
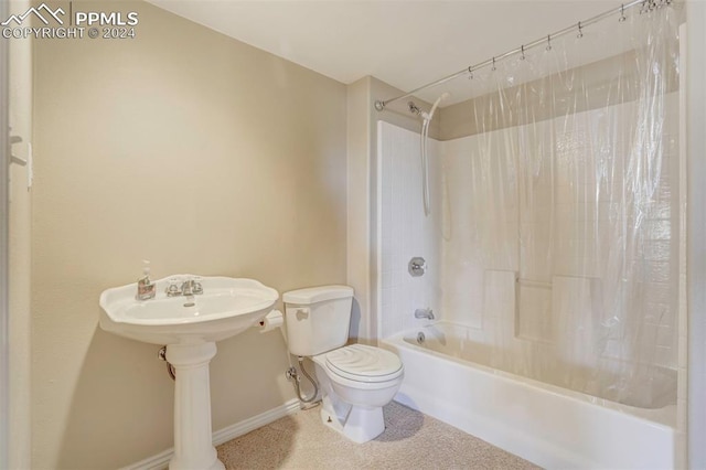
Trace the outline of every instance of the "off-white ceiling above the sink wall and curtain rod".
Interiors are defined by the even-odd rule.
[[[621,4],[619,0],[149,1],[344,84],[372,75],[405,92]]]

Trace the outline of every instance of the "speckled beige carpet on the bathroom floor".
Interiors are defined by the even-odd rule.
[[[226,469],[536,469],[532,463],[397,403],[385,431],[354,444],[324,426],[319,407],[218,446]]]

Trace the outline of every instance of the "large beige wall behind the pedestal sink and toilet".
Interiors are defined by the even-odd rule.
[[[158,346],[103,332],[101,290],[242,276],[346,280],[345,86],[142,2],[136,40],[38,41],[33,468],[114,468],[172,446]],[[293,397],[279,333],[218,343],[213,427]]]

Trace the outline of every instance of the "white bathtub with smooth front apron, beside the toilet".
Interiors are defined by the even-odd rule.
[[[462,330],[437,322],[381,340],[405,364],[396,402],[547,469],[674,468],[675,405],[637,408],[488,367],[448,350]],[[425,346],[420,332],[449,341]]]

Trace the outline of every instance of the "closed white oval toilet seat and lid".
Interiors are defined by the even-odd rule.
[[[404,373],[396,354],[364,344],[351,344],[325,353],[325,366],[339,377],[364,383],[388,382]]]

